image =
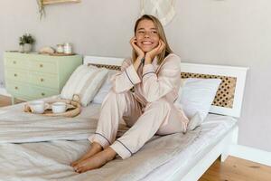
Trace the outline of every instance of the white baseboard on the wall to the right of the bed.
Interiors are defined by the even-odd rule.
[[[271,167],[271,152],[242,145],[232,146],[229,155]]]

